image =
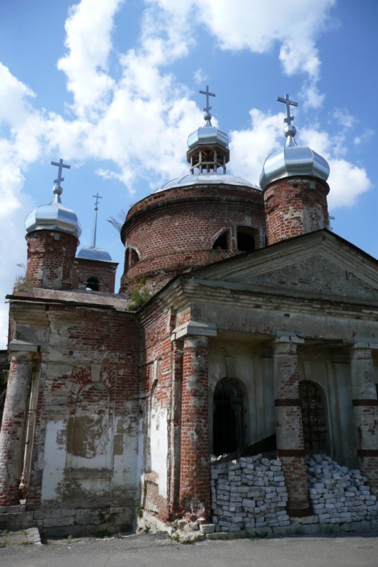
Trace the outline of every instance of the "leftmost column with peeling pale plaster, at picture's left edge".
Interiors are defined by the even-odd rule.
[[[11,357],[0,433],[0,505],[19,504],[18,487],[23,471],[25,417],[30,390],[33,353]]]

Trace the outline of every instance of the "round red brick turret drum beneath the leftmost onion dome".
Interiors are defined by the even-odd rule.
[[[35,287],[71,289],[77,238],[64,232],[35,230],[26,240],[28,280]]]

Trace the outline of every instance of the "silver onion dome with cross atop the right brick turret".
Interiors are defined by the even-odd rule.
[[[297,129],[292,125],[294,116],[290,116],[290,105],[298,106],[298,103],[290,101],[288,94],[285,95],[285,99],[277,97],[277,101],[286,104],[287,117],[284,120],[286,145],[265,159],[260,174],[261,189],[265,189],[272,181],[285,177],[309,176],[326,181],[329,176],[326,159],[309,147],[298,146],[294,140]]]

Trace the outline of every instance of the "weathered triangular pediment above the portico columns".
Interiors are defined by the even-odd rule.
[[[294,296],[378,301],[378,262],[321,230],[207,266],[196,280]]]

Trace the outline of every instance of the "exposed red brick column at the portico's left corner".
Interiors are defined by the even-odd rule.
[[[187,517],[210,518],[207,337],[185,337],[181,405],[180,504]]]

